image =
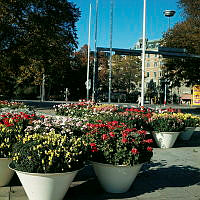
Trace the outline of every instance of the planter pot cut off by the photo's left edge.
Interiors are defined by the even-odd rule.
[[[14,171],[9,169],[10,158],[0,158],[0,186],[8,185],[14,175]]]

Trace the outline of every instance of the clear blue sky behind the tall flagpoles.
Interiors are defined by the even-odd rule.
[[[88,43],[89,5],[92,5],[91,50],[94,50],[96,0],[69,0],[81,10],[77,22],[79,48]],[[182,20],[178,0],[146,0],[146,37],[160,39],[168,29],[168,18],[164,10],[175,10],[171,26]],[[113,48],[133,48],[142,38],[143,0],[113,0]],[[110,46],[110,0],[99,0],[97,46]]]

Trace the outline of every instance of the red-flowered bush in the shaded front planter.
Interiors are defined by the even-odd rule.
[[[149,161],[153,155],[152,140],[145,139],[145,130],[129,128],[118,121],[99,121],[87,126],[85,138],[90,160],[133,166]]]

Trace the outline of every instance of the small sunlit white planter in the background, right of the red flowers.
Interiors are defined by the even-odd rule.
[[[158,132],[153,133],[153,137],[160,148],[166,149],[173,147],[179,134],[180,132]]]

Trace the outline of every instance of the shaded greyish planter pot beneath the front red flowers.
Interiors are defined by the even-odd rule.
[[[110,193],[124,193],[129,190],[143,164],[115,166],[92,162],[95,174],[102,188]]]

